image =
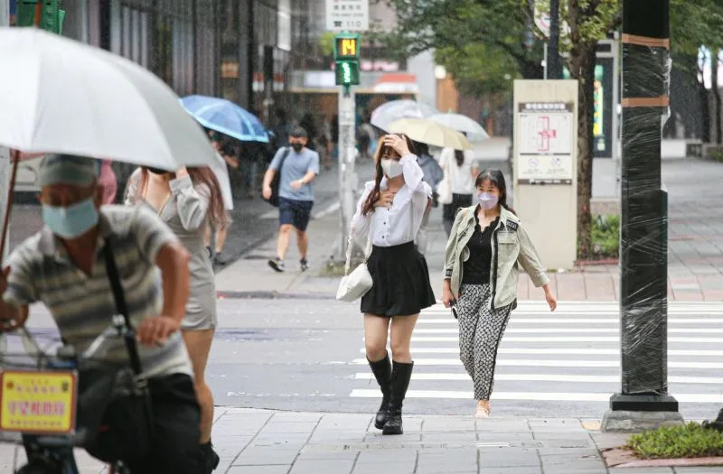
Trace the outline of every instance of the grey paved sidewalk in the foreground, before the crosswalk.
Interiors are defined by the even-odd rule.
[[[472,408],[472,405],[471,405]],[[404,416],[405,433],[382,436],[371,414],[294,413],[216,408],[216,472],[230,474],[694,474],[713,468],[607,469],[600,450],[626,435],[601,433],[599,421],[475,420],[472,416]],[[103,465],[77,452],[80,470]],[[0,474],[13,448],[0,444]]]

